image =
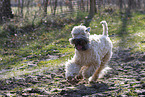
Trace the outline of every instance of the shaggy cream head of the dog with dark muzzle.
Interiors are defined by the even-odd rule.
[[[89,48],[89,35],[90,27],[75,26],[72,29],[72,38],[69,39],[70,43],[75,46],[77,50],[87,50]]]

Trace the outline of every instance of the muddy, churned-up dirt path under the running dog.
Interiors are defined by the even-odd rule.
[[[64,67],[43,74],[0,80],[0,96],[103,97],[145,96],[145,53],[114,52],[112,70],[94,84],[65,80]]]

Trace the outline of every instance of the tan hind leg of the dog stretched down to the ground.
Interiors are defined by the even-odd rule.
[[[101,61],[99,68],[95,71],[95,73],[89,78],[89,82],[96,81],[99,77],[101,71],[106,67],[106,63],[110,60],[111,52],[108,52]]]

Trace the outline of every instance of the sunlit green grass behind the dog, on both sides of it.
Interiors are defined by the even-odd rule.
[[[32,24],[32,21],[17,21],[14,24],[14,19],[0,26],[0,70],[9,70],[0,75],[9,78],[39,70],[43,72],[44,67],[49,69],[49,67],[59,67],[60,64],[64,65],[74,54],[74,48],[68,41],[71,37],[71,29],[81,24],[85,16],[87,13],[78,12],[65,17],[54,17],[56,24],[52,27],[49,25],[52,23],[49,22],[49,17],[45,17],[41,22],[40,19],[36,19],[33,30],[27,29],[28,26],[26,26]],[[101,16],[96,14],[90,23],[91,34],[102,34],[100,24],[102,20],[108,22],[109,35],[115,35],[115,37],[110,37],[114,50],[131,48],[132,52],[145,51],[144,14],[134,12],[129,17],[118,11],[112,14],[101,13]],[[61,26],[62,23],[65,25]],[[51,59],[50,55],[57,58]],[[37,64],[37,66],[29,67],[29,63]]]

